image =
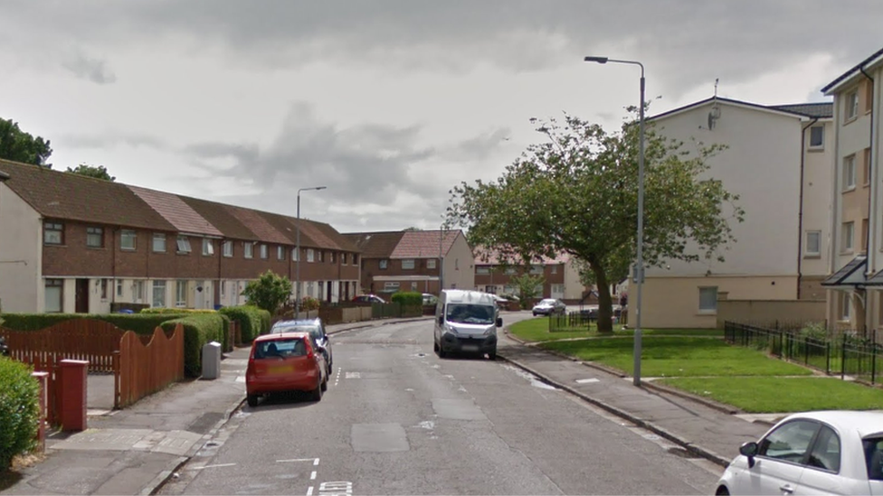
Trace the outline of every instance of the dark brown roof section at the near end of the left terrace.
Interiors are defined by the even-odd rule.
[[[0,160],[5,185],[45,218],[176,231],[171,222],[119,182]]]

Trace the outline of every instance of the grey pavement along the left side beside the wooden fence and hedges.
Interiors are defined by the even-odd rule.
[[[330,325],[328,333],[431,318]],[[152,494],[242,405],[249,351],[238,348],[225,353],[219,379],[179,382],[122,410],[110,409],[113,376],[90,375],[88,429],[51,435],[43,462],[24,469],[21,478],[2,492],[9,496]]]

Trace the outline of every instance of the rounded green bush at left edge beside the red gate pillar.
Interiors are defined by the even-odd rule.
[[[0,357],[0,471],[33,449],[39,426],[39,382],[23,363]]]

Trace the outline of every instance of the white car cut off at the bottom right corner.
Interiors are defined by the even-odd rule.
[[[883,413],[794,414],[739,453],[715,496],[883,496]]]

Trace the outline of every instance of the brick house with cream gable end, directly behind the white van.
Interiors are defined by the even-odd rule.
[[[345,235],[362,252],[362,291],[392,294],[475,284],[474,256],[463,231],[404,230]],[[441,280],[440,280],[441,276]]]

